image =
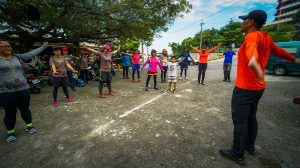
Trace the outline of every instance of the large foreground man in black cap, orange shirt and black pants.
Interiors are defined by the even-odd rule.
[[[220,154],[244,165],[244,151],[255,155],[254,142],[257,135],[256,111],[263,94],[264,69],[269,54],[300,64],[299,59],[276,46],[267,32],[259,31],[266,21],[263,10],[253,10],[239,16],[244,21],[241,32],[245,38],[238,51],[237,74],[231,98],[231,116],[234,126],[233,146],[219,149]]]

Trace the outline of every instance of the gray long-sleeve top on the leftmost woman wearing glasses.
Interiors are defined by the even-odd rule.
[[[15,54],[17,55],[21,60],[25,61],[33,56],[39,54],[41,51],[47,48],[47,45],[43,45],[39,48],[36,48],[30,52],[24,53],[24,54]],[[5,62],[6,61],[6,62]],[[17,57],[11,55],[11,59],[3,59],[0,58],[0,93],[5,92],[17,92],[20,90],[28,89],[29,86],[27,84],[27,81],[22,74],[22,66],[20,64],[20,61]],[[13,62],[13,65],[11,63]],[[13,75],[13,72],[11,68],[15,69],[16,77],[20,80],[19,82],[15,82],[15,77]]]

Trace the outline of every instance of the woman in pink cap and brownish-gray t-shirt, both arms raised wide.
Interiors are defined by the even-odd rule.
[[[108,88],[108,94],[113,96],[114,93],[111,91],[111,85],[110,85],[110,81],[112,79],[112,75],[111,75],[111,71],[110,71],[110,61],[111,61],[111,56],[114,55],[115,53],[117,53],[120,49],[120,47],[117,48],[117,50],[114,50],[112,52],[109,52],[110,47],[108,44],[103,45],[103,52],[97,52],[94,49],[88,48],[85,44],[85,42],[82,43],[83,47],[90,52],[95,53],[96,55],[98,55],[98,59],[100,60],[100,77],[99,77],[99,96],[101,98],[105,98],[105,96],[102,93],[102,88],[103,88],[103,84],[106,83],[107,84],[107,88]]]

